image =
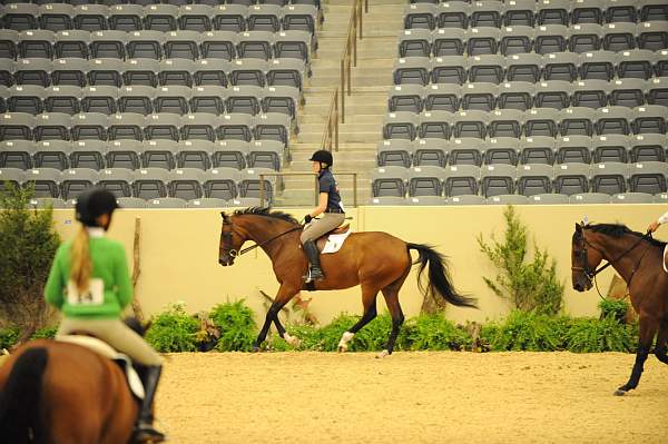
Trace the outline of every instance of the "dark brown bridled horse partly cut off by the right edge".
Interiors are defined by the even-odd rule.
[[[631,304],[640,319],[640,341],[631,376],[615,394],[623,395],[638,386],[645,361],[657,335],[655,355],[668,364],[668,274],[664,272],[666,244],[631,231],[623,225],[576,224],[572,237],[573,288],[584,292],[607,260],[627,283]]]

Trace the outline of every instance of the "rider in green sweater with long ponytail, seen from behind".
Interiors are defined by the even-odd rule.
[[[53,259],[45,288],[47,302],[62,312],[58,336],[90,333],[146,366],[145,397],[136,425],[139,442],[160,442],[165,435],[153,427],[153,401],[163,369],[163,358],[120,320],[132,299],[132,287],[122,245],[105,237],[117,208],[114,195],[91,188],[77,199],[81,227],[71,241],[63,243]]]

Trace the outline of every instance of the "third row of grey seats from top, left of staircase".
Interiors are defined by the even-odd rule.
[[[292,86],[302,89],[310,71],[302,60],[238,59],[0,59],[0,85],[58,86]]]

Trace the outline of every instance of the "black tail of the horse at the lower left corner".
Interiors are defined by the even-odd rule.
[[[7,443],[28,443],[36,424],[41,396],[41,379],[49,358],[45,347],[28,348],[17,358],[4,389],[0,393],[0,430]]]

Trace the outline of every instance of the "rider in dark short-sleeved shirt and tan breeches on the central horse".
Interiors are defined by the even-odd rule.
[[[311,156],[313,161],[313,172],[317,172],[317,181],[320,186],[318,206],[304,217],[304,231],[299,237],[304,251],[311,264],[308,273],[304,276],[304,282],[310,283],[325,278],[320,265],[320,251],[315,245],[315,240],[326,233],[337,228],[345,220],[345,211],[341,203],[341,195],[336,180],[330,170],[333,164],[332,152],[321,149]],[[317,216],[323,215],[320,219]]]

